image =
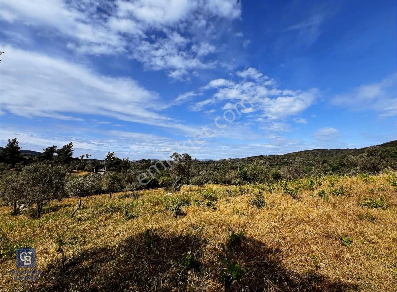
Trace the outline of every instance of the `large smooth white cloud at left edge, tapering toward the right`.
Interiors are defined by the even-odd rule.
[[[159,95],[129,77],[108,77],[86,66],[33,51],[3,46],[1,108],[23,117],[82,120],[95,114],[120,120],[193,131],[156,111]],[[74,115],[74,117],[71,116]],[[76,117],[77,116],[77,117]]]

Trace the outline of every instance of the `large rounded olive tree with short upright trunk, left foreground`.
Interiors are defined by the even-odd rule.
[[[30,164],[18,176],[21,200],[37,205],[37,217],[51,200],[66,197],[64,167],[48,164]]]

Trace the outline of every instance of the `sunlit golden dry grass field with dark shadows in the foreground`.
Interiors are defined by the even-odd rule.
[[[396,291],[393,179],[331,175],[273,190],[206,185],[201,194],[183,186],[170,196],[163,189],[99,195],[84,198],[73,218],[76,199],[52,201],[39,219],[1,208],[0,290],[224,291],[227,256],[245,269],[230,291]],[[178,202],[175,217],[165,209]],[[36,248],[42,273],[27,286],[9,273],[20,246]]]

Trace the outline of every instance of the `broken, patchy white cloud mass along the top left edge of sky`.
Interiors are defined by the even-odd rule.
[[[179,80],[189,80],[184,76],[193,69],[214,67],[216,61],[203,61],[216,51],[210,44],[214,35],[208,31],[202,38],[202,32],[212,29],[216,19],[229,21],[240,14],[237,0],[4,0],[1,9],[3,21],[59,36],[73,51],[127,53],[146,69],[170,70],[168,76]]]

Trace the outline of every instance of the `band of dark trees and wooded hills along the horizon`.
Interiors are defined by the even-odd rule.
[[[103,161],[89,159],[90,154],[73,156],[73,143],[60,148],[49,146],[40,155],[21,155],[21,147],[16,138],[8,140],[5,148],[0,149],[0,171],[2,174],[12,171],[22,171],[31,163],[62,166],[67,172],[85,170],[97,172],[103,167]],[[190,155],[189,155],[190,157]],[[175,157],[173,157],[175,158]],[[191,159],[191,157],[189,158]],[[104,161],[107,171],[115,171],[123,176],[128,188],[170,188],[175,183],[172,167],[164,162],[156,168],[150,168],[154,162],[151,159],[130,161],[121,159],[114,152],[108,152]],[[141,173],[150,175],[144,182],[138,183]],[[198,161],[191,159],[180,179],[183,184],[243,184],[248,182],[265,182],[274,180],[290,180],[300,177],[321,176],[326,173],[355,174],[378,173],[383,169],[397,169],[397,140],[378,146],[360,149],[314,149],[293,152],[283,155],[259,155],[241,159],[222,159],[218,161]]]

